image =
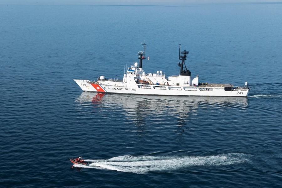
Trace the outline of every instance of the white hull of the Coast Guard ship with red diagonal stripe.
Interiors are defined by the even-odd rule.
[[[114,81],[91,82],[74,80],[83,91],[119,94],[164,95],[164,96],[221,96],[247,97],[250,88],[228,87],[227,84],[208,84],[202,86],[143,85]]]

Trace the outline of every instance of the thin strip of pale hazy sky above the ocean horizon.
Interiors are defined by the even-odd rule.
[[[0,0],[0,4],[181,5],[189,3],[255,3],[282,0]]]

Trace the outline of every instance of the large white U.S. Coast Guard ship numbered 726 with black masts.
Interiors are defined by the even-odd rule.
[[[250,88],[245,86],[233,86],[231,84],[199,83],[199,75],[191,81],[191,72],[185,65],[186,55],[184,50],[180,52],[181,63],[178,76],[166,77],[162,71],[156,73],[145,73],[142,62],[146,59],[146,44],[142,43],[144,51],[138,52],[138,63],[127,68],[122,80],[107,79],[100,76],[96,81],[76,80],[74,81],[83,91],[100,93],[121,93],[141,95],[168,95],[168,96],[226,96],[247,97]]]

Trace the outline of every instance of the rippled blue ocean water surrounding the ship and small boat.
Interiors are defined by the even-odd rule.
[[[3,187],[281,187],[282,4],[0,5]],[[82,92],[147,72],[248,81],[248,97]],[[81,156],[92,164],[75,165]]]

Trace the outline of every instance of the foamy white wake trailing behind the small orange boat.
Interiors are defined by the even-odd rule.
[[[77,165],[76,167],[108,169],[136,174],[148,172],[169,172],[174,170],[185,170],[194,166],[221,166],[234,165],[250,162],[250,156],[242,153],[229,153],[210,156],[132,156],[124,155],[111,159],[85,159],[89,163]]]

